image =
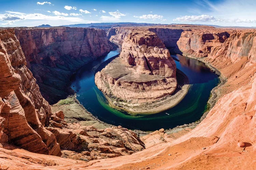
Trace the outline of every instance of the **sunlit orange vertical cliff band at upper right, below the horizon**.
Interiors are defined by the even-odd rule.
[[[233,63],[248,57],[256,62],[255,36],[250,30],[184,31],[177,45],[183,53],[196,57],[224,57]]]

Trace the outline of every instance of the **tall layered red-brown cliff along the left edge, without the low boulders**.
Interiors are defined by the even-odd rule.
[[[26,67],[14,30],[1,30],[0,35],[0,118],[3,132],[10,143],[23,149],[60,156],[55,136],[43,126],[49,121],[51,108]]]

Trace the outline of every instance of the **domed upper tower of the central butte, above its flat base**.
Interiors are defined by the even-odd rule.
[[[176,77],[176,64],[155,33],[130,34],[122,44],[120,57],[127,64],[136,66],[139,74]]]

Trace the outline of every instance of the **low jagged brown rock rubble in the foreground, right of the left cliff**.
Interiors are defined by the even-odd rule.
[[[129,155],[144,149],[144,143],[126,128],[96,129],[69,124],[68,129],[47,128],[57,138],[63,157],[84,160]]]

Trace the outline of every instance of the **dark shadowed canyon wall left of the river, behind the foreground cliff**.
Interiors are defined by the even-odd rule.
[[[116,48],[104,30],[89,28],[15,29],[27,66],[50,103],[69,94],[72,73]]]

